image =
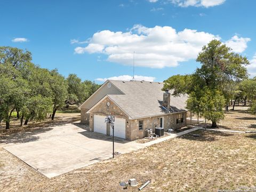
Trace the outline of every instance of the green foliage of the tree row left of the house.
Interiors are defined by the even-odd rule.
[[[23,118],[42,121],[67,103],[80,104],[99,88],[91,81],[82,82],[75,74],[67,79],[57,69],[35,66],[31,53],[15,47],[0,47],[0,121],[9,128],[14,110]]]

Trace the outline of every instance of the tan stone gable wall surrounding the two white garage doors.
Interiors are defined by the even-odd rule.
[[[107,106],[107,102],[110,103],[109,107]],[[115,118],[125,118],[126,139],[130,140],[131,131],[129,131],[129,124],[127,123],[129,117],[113,101],[106,98],[98,106],[96,106],[94,109],[91,110],[91,112],[90,112],[90,131],[92,131],[92,132],[94,131],[94,127],[93,127],[94,126],[94,122],[93,122],[94,115],[102,115],[102,116],[113,115],[113,116],[115,116]],[[110,135],[110,126],[109,125],[107,125],[107,134]]]

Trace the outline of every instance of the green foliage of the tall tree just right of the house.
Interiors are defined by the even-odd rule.
[[[174,89],[173,95],[188,94],[187,109],[213,122],[223,119],[222,107],[233,97],[237,82],[247,79],[250,62],[231,51],[220,41],[203,46],[197,62],[202,64],[191,75],[175,75],[164,81],[164,89]]]

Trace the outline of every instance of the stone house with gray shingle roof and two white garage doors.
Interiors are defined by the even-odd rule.
[[[81,123],[90,123],[90,131],[112,135],[105,123],[115,116],[115,136],[135,140],[147,136],[146,129],[179,129],[186,125],[187,95],[173,97],[163,83],[146,81],[106,81],[82,103]],[[171,91],[172,92],[172,91]]]

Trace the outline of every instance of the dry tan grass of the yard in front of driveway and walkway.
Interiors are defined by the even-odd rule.
[[[236,120],[244,117],[240,122]],[[243,111],[228,113],[226,121],[226,129],[251,129],[248,126],[256,124]],[[122,191],[119,182],[130,178],[136,178],[139,186],[150,180],[144,191],[217,191],[256,186],[256,134],[193,133],[201,137],[186,134],[52,179],[0,149],[0,191]],[[129,187],[125,191],[137,190]]]

